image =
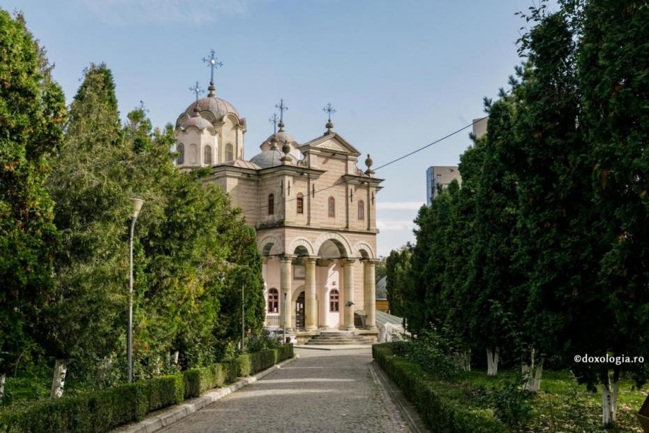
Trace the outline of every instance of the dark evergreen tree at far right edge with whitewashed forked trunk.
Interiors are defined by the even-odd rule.
[[[563,6],[573,11],[581,29],[580,120],[595,160],[592,207],[601,217],[595,228],[605,249],[596,268],[598,302],[580,321],[592,326],[589,354],[648,353],[649,7],[630,0],[565,1]],[[648,373],[639,364],[579,367],[583,381],[602,384],[604,425],[616,422],[622,371],[638,385]]]

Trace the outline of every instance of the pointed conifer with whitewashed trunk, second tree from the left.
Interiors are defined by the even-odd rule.
[[[124,331],[128,269],[129,152],[112,73],[91,64],[70,107],[65,145],[52,159],[48,187],[56,201],[62,248],[57,294],[44,309],[41,341],[56,358],[52,396],[63,393],[66,360],[77,371],[114,350]]]

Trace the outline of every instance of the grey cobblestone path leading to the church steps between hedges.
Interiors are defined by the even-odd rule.
[[[369,368],[371,351],[296,349],[300,359],[163,432],[410,432]]]

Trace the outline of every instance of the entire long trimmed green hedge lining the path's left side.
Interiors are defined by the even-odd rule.
[[[149,412],[178,404],[184,398],[197,397],[206,390],[237,381],[239,375],[256,373],[292,356],[293,346],[285,344],[209,367],[188,369],[183,374],[40,400],[29,406],[16,404],[0,409],[0,433],[108,432],[119,425],[140,421]]]

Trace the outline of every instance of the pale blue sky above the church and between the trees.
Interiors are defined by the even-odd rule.
[[[322,134],[325,103],[334,131],[375,166],[482,117],[519,63],[515,41],[531,0],[5,0],[56,64],[68,102],[83,68],[113,71],[122,117],[140,101],[155,126],[175,122],[209,81],[201,59],[223,68],[217,95],[246,117],[246,159],[272,133],[279,98],[298,142]],[[426,168],[456,165],[468,131],[376,173],[379,254],[413,239],[426,200]],[[364,161],[364,156],[361,161]],[[362,168],[363,163],[359,166]]]

